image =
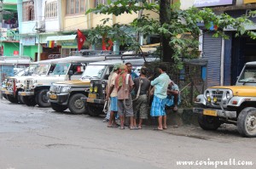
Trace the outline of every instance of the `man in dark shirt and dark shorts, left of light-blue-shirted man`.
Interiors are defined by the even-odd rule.
[[[139,116],[138,129],[142,129],[143,119],[148,119],[148,90],[150,81],[146,77],[147,68],[143,67],[140,76],[134,79],[134,91],[136,99],[133,100],[134,126],[137,126],[137,116]]]

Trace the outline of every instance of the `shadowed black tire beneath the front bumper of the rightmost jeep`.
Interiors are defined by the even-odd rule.
[[[204,130],[217,130],[220,127],[221,122],[218,117],[211,115],[198,115],[199,126]]]

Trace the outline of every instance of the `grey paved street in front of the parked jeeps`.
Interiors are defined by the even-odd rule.
[[[255,138],[241,138],[233,126],[217,132],[190,125],[131,131],[108,128],[102,117],[55,113],[5,99],[0,109],[0,169],[216,168],[209,163],[234,160],[254,165],[217,168],[256,168]],[[177,166],[177,161],[208,165]]]

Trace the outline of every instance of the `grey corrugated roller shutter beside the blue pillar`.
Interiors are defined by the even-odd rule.
[[[220,85],[221,37],[212,37],[213,33],[203,36],[203,54],[208,59],[207,87]]]

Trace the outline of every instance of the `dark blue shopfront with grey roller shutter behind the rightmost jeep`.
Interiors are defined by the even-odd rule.
[[[230,14],[236,18],[256,10],[256,0],[195,0],[197,8],[212,8],[215,14]],[[249,17],[256,23],[255,16]],[[255,25],[246,25],[247,30],[256,30]],[[256,41],[247,36],[236,37],[236,30],[224,29],[229,39],[212,37],[214,31],[203,31],[202,58],[208,60],[207,87],[235,85],[243,65],[256,61],[254,48]]]

